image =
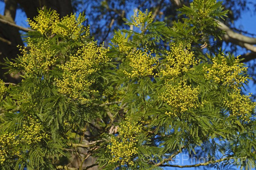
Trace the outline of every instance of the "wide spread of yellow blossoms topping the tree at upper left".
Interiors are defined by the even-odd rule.
[[[67,15],[59,20],[59,14],[56,11],[39,11],[39,15],[34,17],[34,21],[29,18],[27,21],[32,29],[38,30],[42,34],[52,35],[55,33],[64,38],[77,40],[88,36],[90,33],[89,27],[85,28],[82,24],[85,21],[84,16],[79,14],[76,17],[75,15],[75,13],[70,16]]]

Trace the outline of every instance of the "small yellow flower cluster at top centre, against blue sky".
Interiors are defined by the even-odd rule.
[[[145,26],[152,23],[154,21],[154,17],[152,15],[152,12],[147,13],[147,9],[145,13],[139,10],[139,13],[137,14],[134,10],[134,15],[131,16],[132,23],[135,27],[139,28],[141,31],[145,29]]]

